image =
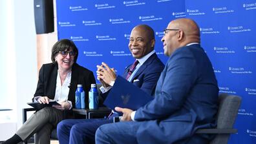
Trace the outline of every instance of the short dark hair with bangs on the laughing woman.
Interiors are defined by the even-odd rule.
[[[52,62],[56,63],[55,57],[57,54],[65,50],[72,50],[73,52],[76,52],[76,56],[74,57],[74,63],[76,63],[76,59],[78,59],[78,48],[74,45],[74,42],[69,39],[61,39],[52,46]]]

